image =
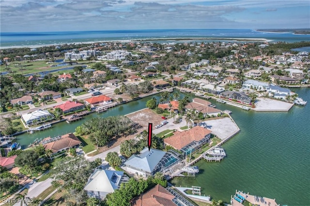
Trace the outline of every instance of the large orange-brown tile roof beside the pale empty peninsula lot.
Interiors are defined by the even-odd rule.
[[[185,147],[186,145],[192,143],[193,141],[202,140],[209,133],[211,133],[210,130],[200,126],[196,126],[188,131],[174,132],[173,133],[174,135],[164,139],[164,142],[180,150],[182,147]]]

